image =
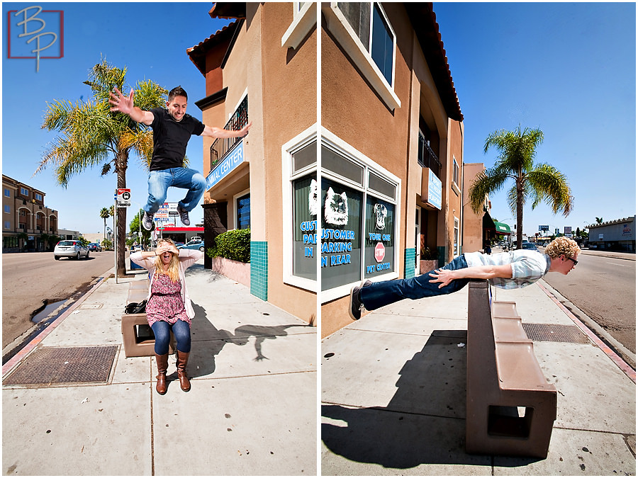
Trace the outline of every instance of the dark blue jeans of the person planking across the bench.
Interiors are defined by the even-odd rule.
[[[467,261],[465,256],[461,254],[442,268],[454,271],[466,267]],[[366,310],[375,310],[379,309],[379,307],[384,307],[384,305],[393,304],[398,300],[414,300],[435,295],[451,294],[461,290],[469,282],[469,279],[457,279],[452,280],[444,288],[439,288],[440,282],[430,283],[430,280],[434,279],[430,277],[432,272],[434,271],[417,275],[410,279],[384,280],[383,282],[366,285],[366,287],[361,288],[361,302]]]

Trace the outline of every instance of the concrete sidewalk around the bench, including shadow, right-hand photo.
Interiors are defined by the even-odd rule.
[[[465,453],[465,288],[388,305],[322,341],[322,474],[635,474],[635,372],[576,328],[553,292],[542,280],[496,292],[524,323],[575,328],[569,341],[534,343],[558,390],[547,459]]]

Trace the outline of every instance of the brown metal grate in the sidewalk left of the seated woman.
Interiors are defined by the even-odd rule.
[[[4,385],[106,382],[117,346],[43,347],[29,355]]]

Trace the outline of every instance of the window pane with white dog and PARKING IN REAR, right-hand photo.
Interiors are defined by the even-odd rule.
[[[321,180],[321,289],[361,277],[363,193],[327,178]]]

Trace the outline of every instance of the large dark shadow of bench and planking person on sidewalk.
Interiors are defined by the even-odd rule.
[[[324,404],[325,446],[347,460],[400,470],[425,464],[491,465],[491,457],[465,452],[467,353],[459,344],[466,337],[466,331],[434,331],[403,365],[397,391],[385,407]],[[535,461],[514,458],[507,466]]]

